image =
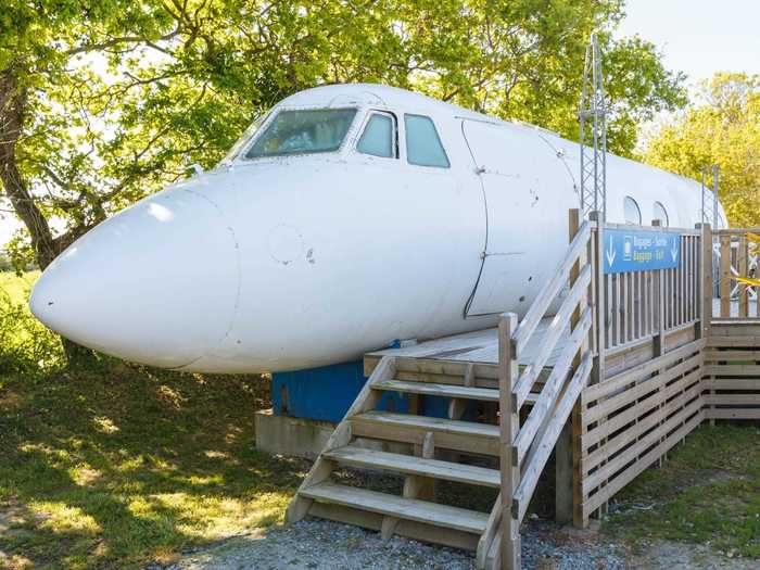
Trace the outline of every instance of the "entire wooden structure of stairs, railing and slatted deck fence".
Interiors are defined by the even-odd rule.
[[[451,345],[417,357],[383,352],[289,506],[289,521],[332,519],[476,550],[479,569],[519,570],[520,524],[553,451],[557,516],[585,527],[702,419],[760,418],[760,315],[749,316],[746,287],[734,315],[730,289],[731,242],[738,241],[735,273],[747,275],[748,230],[718,232],[717,319],[709,225],[677,230],[676,269],[615,275],[604,271],[604,231],[619,228],[595,213],[581,224],[577,210],[569,227],[567,254],[528,313],[519,322],[502,315],[496,359],[452,358]],[[447,417],[414,405],[407,414],[380,410],[388,392],[413,403],[449,398]],[[473,401],[483,414],[468,421]],[[400,476],[403,490],[347,485],[345,468]],[[486,498],[490,508],[442,504],[448,497],[436,494],[436,482],[439,491],[469,485],[466,504]]]

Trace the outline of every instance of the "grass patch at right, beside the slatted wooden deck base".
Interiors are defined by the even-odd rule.
[[[702,426],[617,498],[607,532],[760,558],[760,429]]]

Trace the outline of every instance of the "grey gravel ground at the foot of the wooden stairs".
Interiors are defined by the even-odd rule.
[[[523,525],[523,568],[540,570],[625,569],[624,549],[594,532],[565,531],[552,522]],[[322,520],[277,527],[190,554],[167,570],[471,570],[471,553]]]

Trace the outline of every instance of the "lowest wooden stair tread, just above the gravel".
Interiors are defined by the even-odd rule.
[[[489,516],[484,512],[438,505],[416,498],[404,498],[330,482],[308,486],[301,490],[300,494],[317,503],[353,507],[474,534],[483,533],[489,519]]]

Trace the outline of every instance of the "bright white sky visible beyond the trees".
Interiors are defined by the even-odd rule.
[[[625,13],[618,35],[654,42],[692,88],[718,71],[760,74],[760,0],[628,0]],[[0,249],[17,227],[0,211]]]

